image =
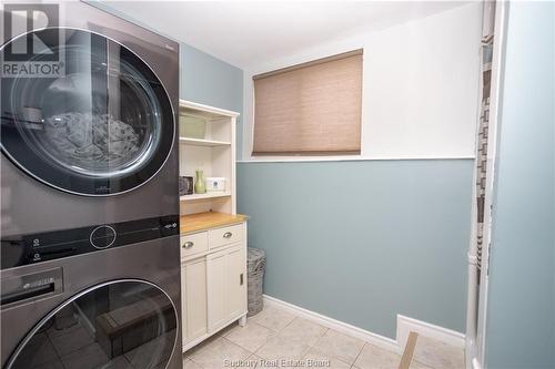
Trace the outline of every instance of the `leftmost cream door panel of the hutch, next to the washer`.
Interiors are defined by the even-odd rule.
[[[184,306],[186,319],[184,335],[190,341],[208,331],[206,325],[206,260],[205,258],[189,262],[182,268],[184,285]]]

